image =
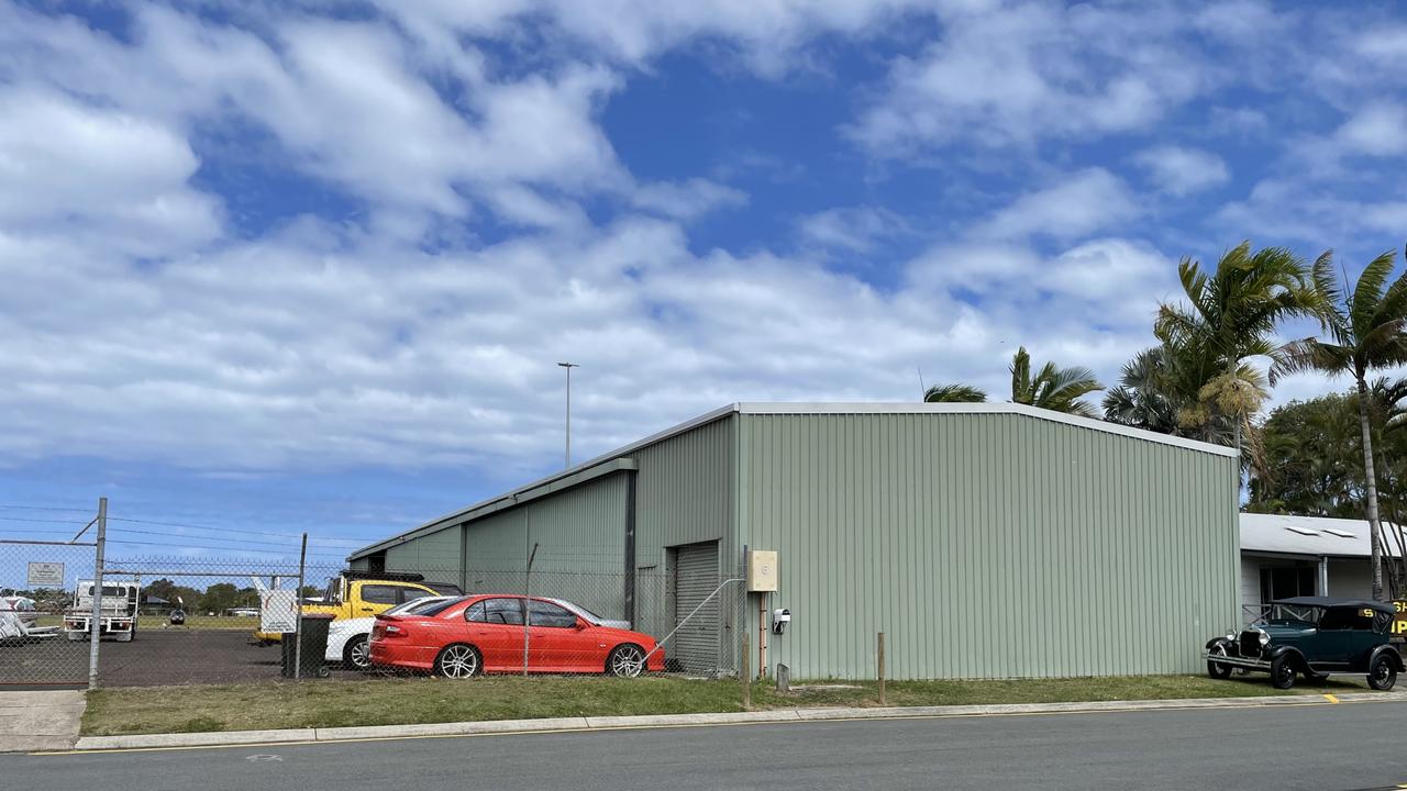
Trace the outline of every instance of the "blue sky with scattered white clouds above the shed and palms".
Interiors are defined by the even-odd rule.
[[[563,359],[578,459],[1021,343],[1112,383],[1182,256],[1400,248],[1404,55],[1393,4],[0,0],[0,533],[335,559],[557,469]]]

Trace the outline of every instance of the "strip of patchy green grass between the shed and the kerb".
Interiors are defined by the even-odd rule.
[[[1202,676],[1041,678],[1027,681],[891,681],[888,705],[967,705],[1067,701],[1223,698],[1356,692],[1361,680],[1300,684],[1289,692],[1265,676],[1213,681]],[[874,707],[872,681],[794,683],[777,692],[753,685],[753,708]],[[215,687],[144,687],[89,692],[86,736],[409,725],[542,716],[604,716],[741,711],[737,681],[673,677],[498,676],[467,681],[383,678],[373,681],[267,681]]]

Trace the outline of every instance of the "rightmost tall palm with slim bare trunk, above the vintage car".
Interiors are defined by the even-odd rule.
[[[1304,338],[1287,343],[1271,370],[1275,377],[1300,370],[1348,373],[1354,377],[1358,387],[1358,428],[1363,438],[1363,488],[1373,542],[1375,600],[1383,598],[1383,526],[1377,517],[1368,374],[1376,369],[1407,363],[1407,273],[1392,284],[1387,283],[1394,259],[1393,251],[1375,258],[1354,289],[1346,290],[1334,277],[1331,253],[1320,256],[1314,263],[1314,286],[1327,303],[1323,318],[1328,339]]]

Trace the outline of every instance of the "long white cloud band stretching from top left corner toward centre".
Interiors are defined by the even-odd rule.
[[[0,69],[51,82],[138,117],[189,129],[249,121],[287,165],[373,210],[466,215],[505,190],[620,191],[629,176],[597,124],[619,82],[566,65],[488,79],[478,52],[456,53],[442,96],[404,38],[371,23],[297,17],[274,44],[156,6],[139,7],[132,42],[17,10],[0,10]],[[516,217],[508,217],[518,221]]]

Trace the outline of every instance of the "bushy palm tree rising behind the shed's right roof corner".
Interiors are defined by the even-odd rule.
[[[1276,327],[1286,318],[1318,315],[1324,296],[1304,262],[1283,248],[1251,252],[1241,242],[1217,260],[1214,272],[1182,259],[1178,277],[1188,298],[1158,308],[1154,335],[1168,349],[1168,387],[1178,393],[1178,425],[1213,434],[1230,424],[1237,449],[1242,431],[1268,396],[1265,376],[1245,360],[1282,357]]]

